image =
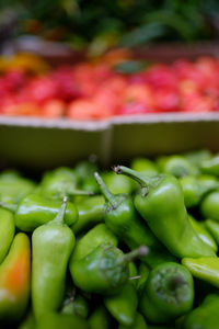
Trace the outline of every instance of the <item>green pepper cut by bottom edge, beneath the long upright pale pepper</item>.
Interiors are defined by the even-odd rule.
[[[35,329],[90,329],[87,320],[70,314],[46,313],[37,321]]]

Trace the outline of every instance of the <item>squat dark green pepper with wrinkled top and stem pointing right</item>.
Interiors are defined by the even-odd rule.
[[[84,258],[70,262],[73,283],[87,293],[115,294],[128,281],[128,262],[147,252],[146,247],[139,247],[124,254],[111,242],[100,245]]]

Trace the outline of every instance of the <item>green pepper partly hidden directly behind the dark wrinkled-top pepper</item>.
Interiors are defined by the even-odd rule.
[[[105,224],[94,226],[77,243],[69,262],[70,266],[73,261],[85,258],[96,247],[107,242],[116,247],[118,241]]]

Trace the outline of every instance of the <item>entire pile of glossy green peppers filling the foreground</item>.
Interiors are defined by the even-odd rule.
[[[0,327],[218,329],[219,155],[0,173]]]

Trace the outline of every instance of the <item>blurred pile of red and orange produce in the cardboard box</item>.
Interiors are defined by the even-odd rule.
[[[34,60],[0,65],[0,115],[102,120],[219,111],[219,59],[212,57],[153,64],[131,75],[116,71],[106,57],[53,69]]]

